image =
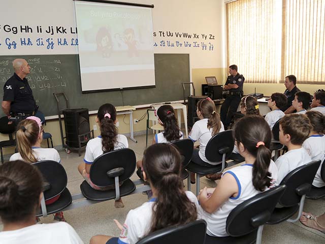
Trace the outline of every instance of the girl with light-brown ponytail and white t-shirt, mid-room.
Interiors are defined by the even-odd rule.
[[[216,112],[214,102],[210,98],[201,99],[197,104],[199,121],[193,125],[188,135],[193,142],[199,140],[200,147],[194,148],[191,161],[201,166],[215,166],[205,157],[205,148],[209,140],[219,132],[224,131],[219,114]],[[190,173],[191,183],[195,184],[195,173]]]

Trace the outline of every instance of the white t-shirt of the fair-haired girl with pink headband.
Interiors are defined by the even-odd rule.
[[[44,160],[53,160],[55,162],[61,163],[60,155],[54,148],[42,148],[42,147],[31,147],[32,154],[36,158],[37,162]],[[9,161],[22,160],[20,153],[13,154]]]

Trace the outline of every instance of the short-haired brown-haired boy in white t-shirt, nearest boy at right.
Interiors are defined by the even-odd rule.
[[[279,140],[288,151],[275,162],[278,167],[279,184],[289,172],[311,162],[311,157],[302,147],[310,131],[310,121],[305,114],[291,113],[280,119]]]

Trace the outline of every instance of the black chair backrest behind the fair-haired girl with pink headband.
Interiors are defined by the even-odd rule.
[[[48,190],[44,191],[45,200],[49,200],[61,194],[67,187],[68,177],[66,170],[58,162],[52,160],[32,163],[43,175],[43,180],[49,183]]]

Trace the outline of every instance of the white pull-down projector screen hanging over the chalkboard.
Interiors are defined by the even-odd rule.
[[[151,8],[75,1],[83,92],[154,86]]]

